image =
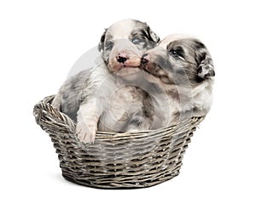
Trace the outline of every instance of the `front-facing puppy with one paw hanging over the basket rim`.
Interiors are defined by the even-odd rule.
[[[76,133],[84,143],[94,142],[96,131],[147,128],[152,103],[143,88],[142,55],[160,38],[138,20],[121,20],[102,34],[102,62],[67,79],[52,105],[77,122]],[[149,105],[151,106],[151,105]]]

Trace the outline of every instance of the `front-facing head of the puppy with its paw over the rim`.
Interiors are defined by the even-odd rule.
[[[146,23],[121,20],[102,34],[99,50],[109,71],[139,67],[142,55],[154,48],[160,38]]]

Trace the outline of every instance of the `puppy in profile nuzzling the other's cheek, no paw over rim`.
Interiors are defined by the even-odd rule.
[[[212,105],[215,76],[206,46],[194,37],[170,35],[143,55],[148,82],[165,91],[157,98],[158,127],[177,124],[192,116],[206,116]],[[166,110],[166,106],[170,106]]]

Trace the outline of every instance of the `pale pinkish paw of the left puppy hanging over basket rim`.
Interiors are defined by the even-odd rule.
[[[78,122],[76,127],[76,134],[81,142],[94,143],[96,137],[96,129],[96,126],[93,124]]]

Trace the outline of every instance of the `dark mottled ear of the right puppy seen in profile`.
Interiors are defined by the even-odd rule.
[[[212,64],[212,58],[208,54],[203,54],[203,59],[201,59],[198,65],[197,75],[202,79],[207,79],[209,77],[215,76],[214,66]]]

